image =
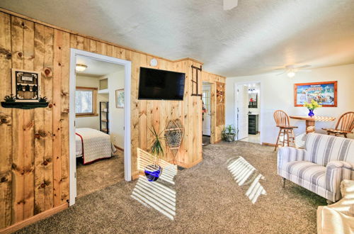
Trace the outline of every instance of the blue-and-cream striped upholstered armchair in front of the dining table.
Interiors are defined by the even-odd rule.
[[[278,150],[278,174],[329,201],[341,198],[341,181],[354,179],[354,140],[310,133],[305,149]]]

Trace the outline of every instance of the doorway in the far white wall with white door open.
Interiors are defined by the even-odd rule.
[[[235,84],[237,140],[261,143],[261,82]]]

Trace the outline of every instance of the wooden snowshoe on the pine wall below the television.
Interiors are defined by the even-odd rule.
[[[165,140],[166,145],[172,152],[173,164],[176,162],[176,155],[181,146],[183,140],[183,125],[181,120],[176,119],[174,121],[169,121],[165,128]]]

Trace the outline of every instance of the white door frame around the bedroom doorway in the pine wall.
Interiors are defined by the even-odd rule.
[[[70,49],[69,79],[69,206],[75,204],[76,198],[76,144],[75,144],[75,90],[76,90],[76,56],[89,57],[94,60],[111,62],[125,67],[125,131],[124,131],[124,178],[132,180],[132,162],[130,149],[130,89],[132,62],[116,57],[100,55],[84,50]]]

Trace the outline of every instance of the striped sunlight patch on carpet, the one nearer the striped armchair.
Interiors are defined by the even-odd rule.
[[[259,182],[264,179],[255,167],[247,162],[243,157],[236,157],[229,160],[227,169],[231,172],[236,183],[239,186],[249,186],[246,191],[246,196],[255,204],[261,194],[266,195],[266,191]]]

